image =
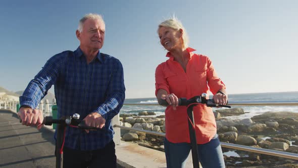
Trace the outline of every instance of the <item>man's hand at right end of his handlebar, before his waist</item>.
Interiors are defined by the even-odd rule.
[[[88,127],[95,127],[102,129],[105,126],[106,119],[97,112],[92,112],[88,114],[83,121],[85,122],[86,126]],[[85,130],[87,133],[89,133],[89,130]]]

